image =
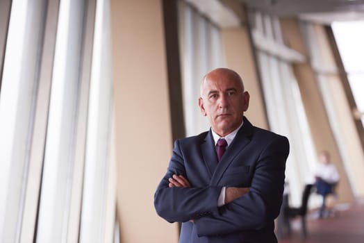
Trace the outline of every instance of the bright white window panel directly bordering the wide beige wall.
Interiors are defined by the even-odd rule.
[[[89,48],[92,49],[92,58],[89,60],[90,64],[92,60],[92,65],[86,66],[89,71],[87,74],[90,74],[86,75],[90,78],[90,97],[86,146],[85,150],[81,150],[85,152],[85,167],[78,242],[82,243],[111,242],[116,204],[116,167],[110,150],[113,144],[110,2],[103,0],[92,3],[88,3],[88,8],[91,7],[88,19],[90,18],[89,24],[92,26],[90,29],[94,29],[94,32],[90,33],[90,38],[86,38],[93,41],[89,42]]]

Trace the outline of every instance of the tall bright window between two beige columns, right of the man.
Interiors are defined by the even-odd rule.
[[[305,57],[283,44],[278,18],[260,12],[251,12],[249,18],[270,130],[290,140],[286,179],[290,201],[299,206],[304,184],[313,183],[315,167],[311,132],[292,70],[292,63]]]

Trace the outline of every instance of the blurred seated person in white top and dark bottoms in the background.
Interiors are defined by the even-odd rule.
[[[322,195],[322,206],[319,217],[324,217],[326,211],[326,196],[333,194],[333,189],[339,181],[336,166],[331,163],[328,151],[322,151],[319,156],[320,163],[315,171],[315,185],[317,194]]]

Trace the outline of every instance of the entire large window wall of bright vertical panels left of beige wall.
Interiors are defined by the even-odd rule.
[[[10,2],[1,45],[0,242],[110,242],[108,1]]]

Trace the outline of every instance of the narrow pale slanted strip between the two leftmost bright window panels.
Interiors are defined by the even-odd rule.
[[[43,21],[44,40],[42,41],[42,57],[39,66],[38,95],[35,101],[34,128],[31,140],[20,242],[32,242],[35,233],[51,95],[51,76],[53,70],[53,53],[56,46],[58,8],[58,0],[49,0],[47,3],[47,11],[44,12],[44,15],[47,15],[44,16],[45,21]]]

